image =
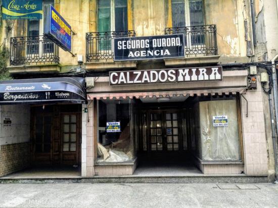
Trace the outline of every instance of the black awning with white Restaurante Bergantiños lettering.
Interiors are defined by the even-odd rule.
[[[0,105],[87,103],[81,77],[7,80],[0,82]]]

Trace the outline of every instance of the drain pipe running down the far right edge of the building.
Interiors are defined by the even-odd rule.
[[[274,109],[275,109],[275,120],[276,120],[276,130],[278,127],[278,87],[277,87],[277,75],[276,75],[276,65],[275,60],[278,58],[278,54],[271,60],[272,63],[272,83],[273,83],[273,98],[274,98]],[[270,102],[271,104],[271,102]],[[275,126],[274,126],[275,128]],[[277,133],[278,135],[278,133]],[[278,173],[278,164],[277,164],[277,140],[276,136],[272,136],[273,146],[274,146],[274,161],[275,161],[275,178]]]

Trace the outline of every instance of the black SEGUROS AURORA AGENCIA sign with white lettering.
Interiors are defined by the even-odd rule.
[[[125,37],[114,40],[114,60],[184,57],[184,35]]]

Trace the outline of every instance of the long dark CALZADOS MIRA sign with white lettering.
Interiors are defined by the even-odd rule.
[[[109,72],[110,85],[222,80],[222,66]]]

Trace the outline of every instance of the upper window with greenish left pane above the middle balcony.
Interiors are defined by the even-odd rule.
[[[98,1],[98,32],[127,30],[127,0]]]

